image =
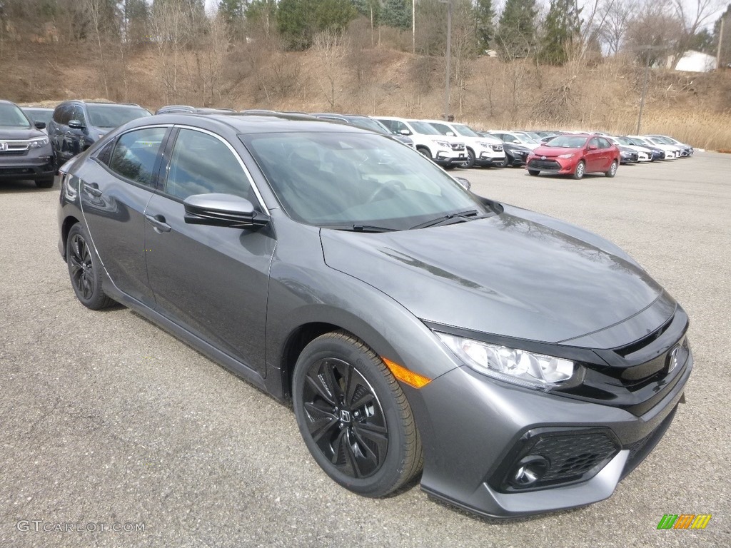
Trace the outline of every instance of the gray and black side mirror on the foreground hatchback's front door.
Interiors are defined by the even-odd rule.
[[[248,199],[232,194],[194,194],[183,200],[183,207],[188,224],[251,229],[265,227],[270,221]]]

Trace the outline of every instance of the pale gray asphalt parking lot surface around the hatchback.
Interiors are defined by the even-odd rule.
[[[689,313],[687,403],[610,499],[496,521],[417,486],[343,490],[287,406],[126,308],[80,305],[57,251],[58,185],[2,183],[0,547],[731,546],[731,155],[613,179],[455,175],[613,240]],[[657,530],[663,514],[713,517]]]

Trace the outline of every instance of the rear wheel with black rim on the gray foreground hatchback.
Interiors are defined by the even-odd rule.
[[[88,246],[89,241],[86,230],[79,223],[71,227],[66,240],[66,262],[77,299],[86,308],[101,310],[115,302],[104,293],[99,259]]]

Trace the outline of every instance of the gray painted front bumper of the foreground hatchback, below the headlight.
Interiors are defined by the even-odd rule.
[[[422,489],[488,517],[517,517],[602,501],[662,438],[691,370],[689,354],[677,384],[641,416],[490,381],[466,366],[420,390],[408,389],[425,447]],[[514,469],[521,444],[547,433],[575,436],[577,443],[563,444],[568,449],[548,458],[569,471],[585,473],[583,478],[559,479],[534,490],[506,489],[501,478],[508,468]],[[588,440],[597,433],[611,441],[613,451],[602,455],[591,449]],[[571,453],[573,448],[577,454]]]

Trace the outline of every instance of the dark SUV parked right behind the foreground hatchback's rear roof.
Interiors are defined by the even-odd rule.
[[[86,151],[96,140],[123,123],[149,116],[138,104],[66,101],[53,110],[48,126],[58,165]]]

